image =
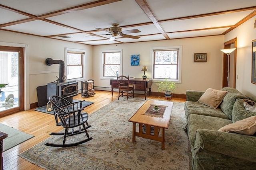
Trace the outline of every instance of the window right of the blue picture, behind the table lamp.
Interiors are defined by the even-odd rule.
[[[153,78],[180,82],[181,80],[181,48],[164,47],[152,49]]]

